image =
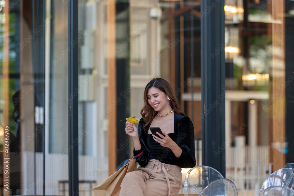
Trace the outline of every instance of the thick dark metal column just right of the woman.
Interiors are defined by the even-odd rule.
[[[201,1],[202,165],[225,177],[224,34],[224,1]]]

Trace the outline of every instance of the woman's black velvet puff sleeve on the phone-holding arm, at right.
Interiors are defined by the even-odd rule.
[[[182,149],[181,156],[176,157],[178,166],[192,168],[196,165],[194,127],[188,116],[181,119],[178,131],[178,146]]]

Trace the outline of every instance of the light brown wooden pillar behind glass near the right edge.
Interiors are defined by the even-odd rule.
[[[285,23],[284,0],[272,1],[271,11],[273,21],[273,70],[270,82],[270,143],[273,145],[270,151],[270,162],[273,163],[273,171],[285,166],[285,154],[277,148],[283,148],[285,143]],[[281,88],[282,87],[282,88]]]

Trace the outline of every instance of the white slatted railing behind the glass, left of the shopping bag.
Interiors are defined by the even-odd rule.
[[[43,195],[43,153],[22,152],[22,193],[21,195]],[[62,195],[61,181],[68,181],[68,155],[50,153],[45,155],[45,194]],[[108,158],[79,155],[79,181],[94,181],[96,186],[108,177]],[[36,171],[36,179],[35,177]],[[79,184],[80,190],[91,190],[85,183]],[[93,188],[93,187],[92,187]],[[36,192],[35,192],[36,189]],[[65,194],[68,195],[68,183]],[[91,192],[92,195],[95,195]]]

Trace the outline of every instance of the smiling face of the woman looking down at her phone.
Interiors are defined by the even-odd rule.
[[[147,91],[147,98],[149,105],[157,112],[165,110],[169,106],[169,101],[167,100],[168,96],[158,88],[149,88]]]

